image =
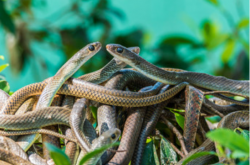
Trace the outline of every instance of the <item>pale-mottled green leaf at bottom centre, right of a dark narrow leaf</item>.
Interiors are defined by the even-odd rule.
[[[161,139],[160,148],[160,159],[162,165],[171,165],[177,163],[177,154],[168,140],[166,140],[164,137]]]

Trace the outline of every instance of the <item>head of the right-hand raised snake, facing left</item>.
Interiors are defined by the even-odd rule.
[[[127,63],[127,64],[131,64],[131,63],[138,63],[138,55],[134,52],[132,52],[131,50],[129,50],[128,48],[119,45],[119,44],[108,44],[106,46],[107,51],[114,56],[115,58]]]

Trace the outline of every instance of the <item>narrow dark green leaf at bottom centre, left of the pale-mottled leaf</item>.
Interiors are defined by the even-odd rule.
[[[158,160],[159,162],[159,160]],[[143,152],[142,156],[142,163],[143,165],[157,165],[155,161],[154,155],[154,142],[153,140],[146,144],[146,147]]]

